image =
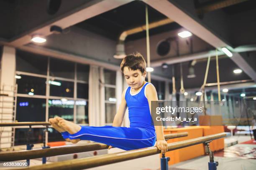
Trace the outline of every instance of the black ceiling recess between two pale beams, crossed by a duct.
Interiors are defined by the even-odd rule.
[[[135,0],[106,13],[85,20],[75,26],[117,40],[120,33],[146,24],[145,3]],[[154,8],[148,6],[148,22],[154,22],[167,17]],[[170,23],[150,30],[150,35],[159,34],[181,28],[177,23]],[[146,31],[139,32],[127,37],[126,40],[136,40],[146,37]]]

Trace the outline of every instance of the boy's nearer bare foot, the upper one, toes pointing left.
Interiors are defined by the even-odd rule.
[[[57,121],[58,121],[58,125],[63,128],[64,130],[66,130],[69,134],[74,134],[79,132],[79,130],[81,130],[81,126],[73,123],[73,122],[69,122],[67,120],[64,120],[61,117],[57,117]],[[80,139],[71,139],[70,142],[72,143],[78,143],[80,141]]]

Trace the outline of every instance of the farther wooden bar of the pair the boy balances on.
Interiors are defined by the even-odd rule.
[[[187,136],[188,133],[174,133],[164,135],[166,140],[173,138],[181,138]],[[102,143],[91,143],[87,145],[74,145],[74,146],[65,146],[59,148],[48,148],[48,149],[37,149],[37,150],[26,150],[26,151],[15,151],[15,152],[6,152],[0,153],[1,161],[15,161],[15,160],[26,160],[26,159],[35,159],[42,157],[50,157],[56,155],[65,155],[72,153],[82,153],[94,150],[103,150],[108,149],[108,145]]]

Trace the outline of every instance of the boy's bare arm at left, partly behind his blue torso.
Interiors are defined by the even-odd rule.
[[[125,90],[124,90],[122,93],[121,104],[119,105],[118,111],[115,114],[113,126],[119,127],[122,125],[123,117],[125,115],[125,110],[126,110],[126,100],[125,100]]]

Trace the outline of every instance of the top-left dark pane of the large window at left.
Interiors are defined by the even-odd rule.
[[[16,70],[36,74],[47,74],[48,57],[29,52],[16,51]]]

